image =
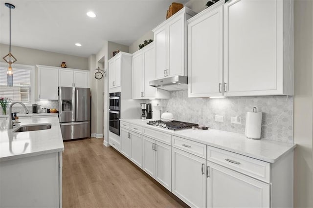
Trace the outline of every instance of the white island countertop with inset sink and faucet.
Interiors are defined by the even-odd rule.
[[[50,129],[12,132],[7,120],[0,120],[0,162],[18,158],[60,152],[64,150],[59,119],[57,117],[21,120],[21,125],[51,124]]]

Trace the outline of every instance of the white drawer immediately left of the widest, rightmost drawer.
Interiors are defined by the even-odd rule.
[[[203,145],[201,143],[173,136],[172,146],[184,150],[186,152],[189,152],[191,154],[198,155],[204,159],[206,158],[206,145]]]

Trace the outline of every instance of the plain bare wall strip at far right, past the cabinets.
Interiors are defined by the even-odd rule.
[[[313,207],[313,1],[294,1],[294,207]]]

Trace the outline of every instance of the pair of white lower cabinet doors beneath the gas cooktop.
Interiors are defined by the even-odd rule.
[[[172,147],[143,137],[143,170],[171,191]]]

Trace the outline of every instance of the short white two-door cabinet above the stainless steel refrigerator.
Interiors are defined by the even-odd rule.
[[[59,69],[59,86],[89,88],[89,76],[87,70]]]

